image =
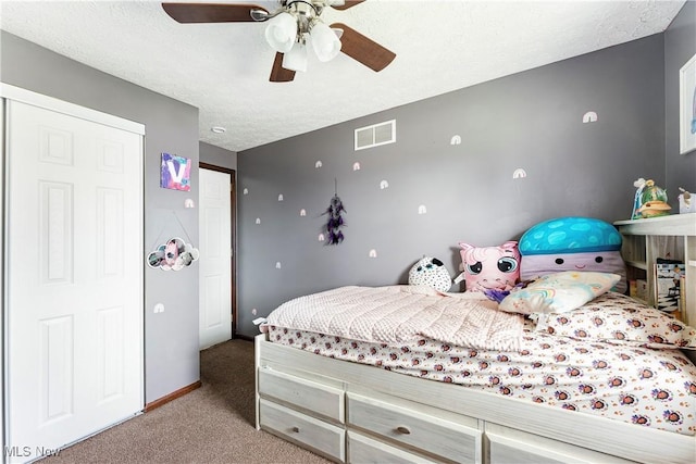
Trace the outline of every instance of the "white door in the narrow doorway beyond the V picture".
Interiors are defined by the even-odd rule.
[[[232,338],[229,174],[199,171],[200,349]]]

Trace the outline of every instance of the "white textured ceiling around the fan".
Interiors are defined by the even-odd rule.
[[[396,60],[375,73],[344,54],[310,57],[291,83],[269,81],[275,52],[263,24],[178,24],[154,1],[1,0],[0,27],[199,108],[200,139],[243,151],[661,33],[683,4],[369,0],[322,18],[346,23]]]

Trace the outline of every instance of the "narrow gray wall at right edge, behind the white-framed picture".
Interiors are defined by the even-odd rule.
[[[679,211],[679,187],[696,192],[696,151],[679,152],[679,71],[696,53],[696,1],[687,1],[664,32],[664,156],[668,198]]]

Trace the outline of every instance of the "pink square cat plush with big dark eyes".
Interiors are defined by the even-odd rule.
[[[511,290],[520,278],[517,241],[499,247],[474,247],[459,242],[467,291]]]

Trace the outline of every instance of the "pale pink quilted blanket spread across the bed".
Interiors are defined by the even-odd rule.
[[[419,286],[340,287],[283,303],[265,324],[380,343],[424,336],[477,349],[518,350],[523,316],[464,294]]]

